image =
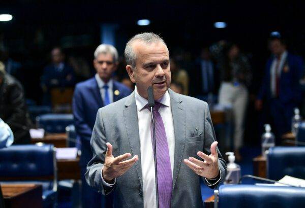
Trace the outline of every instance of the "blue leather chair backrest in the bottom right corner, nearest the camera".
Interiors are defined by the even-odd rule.
[[[284,186],[222,185],[218,192],[218,208],[304,207],[305,188]]]

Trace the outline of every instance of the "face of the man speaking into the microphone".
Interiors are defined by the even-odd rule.
[[[147,99],[147,88],[154,89],[155,100],[161,98],[167,91],[170,81],[169,53],[162,42],[145,44],[135,41],[132,45],[137,54],[136,68],[126,66],[133,83],[136,83],[139,94]]]

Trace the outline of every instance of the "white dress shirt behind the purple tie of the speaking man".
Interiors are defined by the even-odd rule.
[[[138,126],[140,134],[140,152],[141,152],[141,166],[142,166],[142,178],[143,178],[143,201],[144,207],[157,207],[156,204],[156,183],[155,183],[155,163],[153,144],[151,142],[150,111],[145,108],[148,101],[139,95],[137,87],[135,88],[135,98],[138,112]],[[165,127],[170,166],[173,176],[174,171],[174,154],[175,154],[175,133],[174,122],[171,112],[170,96],[168,91],[158,102],[162,103],[159,113],[162,117]]]

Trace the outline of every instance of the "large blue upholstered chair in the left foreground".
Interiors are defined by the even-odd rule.
[[[43,206],[57,201],[57,169],[53,145],[16,145],[0,150],[1,183],[41,184]]]

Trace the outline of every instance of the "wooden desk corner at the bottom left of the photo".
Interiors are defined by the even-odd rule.
[[[6,208],[42,207],[42,186],[38,184],[1,184]]]

